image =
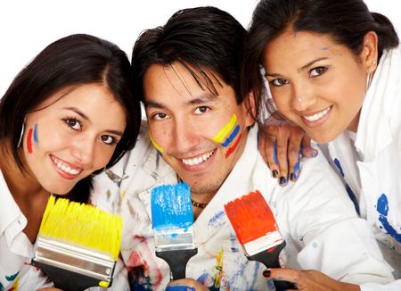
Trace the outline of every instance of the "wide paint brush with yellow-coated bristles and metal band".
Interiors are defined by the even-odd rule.
[[[110,287],[121,245],[122,220],[88,204],[51,195],[32,265],[62,290]]]

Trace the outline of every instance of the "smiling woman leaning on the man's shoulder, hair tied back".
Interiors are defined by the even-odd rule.
[[[399,279],[401,50],[391,22],[362,0],[262,0],[253,13],[241,80],[242,92],[253,92],[259,106],[266,104],[266,81],[278,112],[303,129],[272,121],[264,129],[268,136],[260,136],[280,184],[299,176],[305,133],[324,144],[323,154]],[[297,133],[289,143],[291,132]],[[388,287],[399,290],[401,280]]]

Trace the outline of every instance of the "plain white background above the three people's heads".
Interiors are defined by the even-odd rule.
[[[0,0],[0,97],[14,76],[58,38],[73,33],[92,34],[114,42],[130,58],[141,31],[163,25],[179,9],[217,6],[247,28],[257,3],[258,0]],[[372,12],[388,16],[401,36],[399,0],[365,3]]]

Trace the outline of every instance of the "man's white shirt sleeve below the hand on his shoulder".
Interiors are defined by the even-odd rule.
[[[302,166],[303,174],[289,193],[293,199],[289,207],[291,234],[302,247],[300,267],[356,285],[393,281],[392,268],[384,260],[371,226],[358,218],[344,186],[323,156],[307,159]]]

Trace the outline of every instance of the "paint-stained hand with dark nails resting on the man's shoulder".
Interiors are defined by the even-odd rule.
[[[287,185],[289,178],[291,181],[298,179],[299,155],[315,157],[318,153],[310,145],[310,137],[304,129],[292,121],[276,120],[273,116],[259,125],[258,150],[281,186]]]

